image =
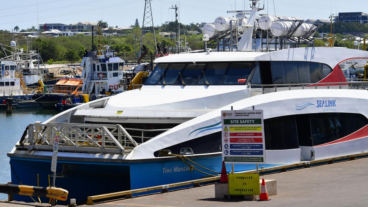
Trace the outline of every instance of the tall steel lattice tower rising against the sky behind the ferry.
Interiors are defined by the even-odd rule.
[[[149,27],[152,27],[152,29],[149,29]],[[153,34],[153,38],[155,39],[155,42],[154,42],[155,43],[155,53],[157,54],[156,34],[155,34],[155,26],[153,25],[151,0],[145,0],[145,7],[144,7],[144,14],[143,14],[143,24],[142,24],[142,34],[141,34],[141,39],[140,39],[140,42],[139,42],[139,52],[140,52],[139,55],[141,55],[141,53],[142,53],[142,41],[143,41],[143,39],[148,41],[148,39],[146,39],[146,37],[144,35],[148,30],[151,30],[151,32]],[[148,41],[148,42],[152,42],[152,41]]]

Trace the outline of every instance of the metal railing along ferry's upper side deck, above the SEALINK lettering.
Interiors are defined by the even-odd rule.
[[[349,80],[349,79],[347,79]],[[300,89],[322,89],[322,88],[333,88],[333,89],[368,89],[368,79],[363,78],[351,78],[348,82],[333,82],[333,83],[296,83],[296,84],[248,84],[252,92],[277,92],[288,91],[288,90],[300,90]],[[365,81],[359,81],[365,80]]]

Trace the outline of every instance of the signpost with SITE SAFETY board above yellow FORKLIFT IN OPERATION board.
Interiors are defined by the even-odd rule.
[[[266,163],[263,110],[223,110],[221,115],[223,161],[255,164],[257,169],[257,173],[229,174],[229,194],[259,194],[258,164]]]

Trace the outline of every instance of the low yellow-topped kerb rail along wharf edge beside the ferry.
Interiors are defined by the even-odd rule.
[[[323,163],[328,163],[328,164],[332,164],[334,163],[334,161],[338,160],[354,160],[355,157],[367,157],[368,156],[368,152],[363,152],[363,153],[358,153],[358,154],[350,154],[350,155],[344,155],[344,156],[339,156],[339,157],[332,157],[332,158],[325,158],[325,159],[316,159],[316,160],[312,160],[312,161],[304,161],[304,162],[298,162],[295,164],[288,164],[288,165],[280,165],[280,166],[275,166],[275,167],[270,167],[270,168],[262,168],[259,169],[259,173],[261,172],[286,172],[287,169],[293,169],[293,168],[297,168],[297,167],[304,167],[304,168],[310,168],[311,164],[312,165],[318,165],[318,164],[323,164]],[[244,172],[237,172],[237,173],[256,173],[256,170],[250,170],[250,171],[244,171]],[[200,187],[200,183],[204,183],[204,182],[211,182],[211,181],[215,181],[215,180],[220,180],[220,176],[215,176],[215,177],[210,177],[210,178],[202,178],[202,179],[197,179],[197,180],[190,180],[190,181],[184,181],[184,182],[179,182],[179,183],[172,183],[172,184],[167,184],[167,185],[160,185],[160,186],[153,186],[153,187],[146,187],[146,188],[141,188],[141,189],[134,189],[134,190],[125,190],[125,191],[121,191],[121,192],[116,192],[116,193],[107,193],[107,194],[102,194],[102,195],[96,195],[96,196],[89,196],[87,197],[87,205],[94,205],[93,201],[96,200],[100,200],[100,199],[109,199],[109,198],[114,198],[117,196],[124,196],[126,195],[125,198],[132,198],[132,194],[133,193],[142,193],[142,192],[149,192],[152,190],[161,190],[162,192],[169,192],[168,189],[169,187],[179,187],[179,186],[186,186],[186,185],[191,185],[194,184],[194,187]],[[111,200],[111,199],[110,199]]]

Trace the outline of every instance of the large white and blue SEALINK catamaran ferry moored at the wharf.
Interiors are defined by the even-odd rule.
[[[252,3],[250,11],[234,11],[241,14],[234,27],[241,26],[244,33],[229,52],[205,48],[160,57],[139,90],[83,103],[42,124],[29,124],[7,154],[12,182],[36,185],[39,175],[45,178],[40,185],[48,185],[56,133],[56,185],[79,202],[96,194],[217,175],[222,164],[221,111],[231,108],[264,112],[266,164],[260,168],[368,151],[368,111],[361,107],[368,101],[367,82],[347,82],[339,65],[367,59],[368,52],[294,47],[283,42],[283,36],[273,38],[281,41],[275,49],[267,45],[262,52],[262,41],[252,39],[259,10],[258,1]],[[244,13],[251,13],[247,24],[242,23]],[[285,23],[289,29],[303,23],[290,19],[293,23]],[[218,25],[233,27],[233,20],[219,21],[223,20]],[[218,34],[224,37],[238,35],[222,32]],[[304,29],[305,36],[299,38],[311,41],[311,33],[311,28]],[[188,165],[180,157],[198,165]],[[234,171],[255,167],[236,164]]]

